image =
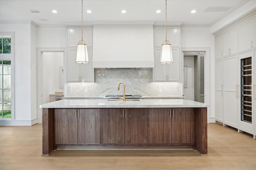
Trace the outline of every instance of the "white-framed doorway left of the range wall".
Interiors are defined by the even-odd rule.
[[[66,48],[38,48],[38,123],[42,123],[41,104],[49,103],[49,94],[66,90],[66,72],[60,80],[60,67],[66,68]],[[54,74],[53,74],[54,73]],[[63,88],[62,88],[62,86]]]

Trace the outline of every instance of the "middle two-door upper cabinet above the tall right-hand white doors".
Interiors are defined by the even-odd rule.
[[[223,57],[237,53],[237,27],[223,33]]]

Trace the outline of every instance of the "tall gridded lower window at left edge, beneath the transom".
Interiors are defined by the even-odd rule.
[[[11,61],[0,60],[0,116],[11,117]]]

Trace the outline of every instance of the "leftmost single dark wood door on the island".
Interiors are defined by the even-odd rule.
[[[77,143],[76,109],[55,109],[55,143]]]

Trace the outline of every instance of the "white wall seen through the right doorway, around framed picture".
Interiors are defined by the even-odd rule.
[[[184,57],[184,66],[187,66],[187,88],[183,94],[187,100],[194,101],[194,56]]]

